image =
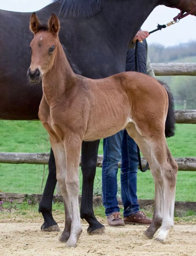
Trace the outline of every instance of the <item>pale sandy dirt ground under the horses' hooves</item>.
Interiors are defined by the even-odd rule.
[[[89,236],[88,225],[82,222],[83,232],[76,248],[65,248],[58,241],[58,232],[40,231],[40,221],[0,223],[0,255],[3,256],[196,256],[196,225],[176,225],[166,244],[145,240],[146,226],[126,225],[112,228],[105,224],[103,235]],[[59,224],[63,230],[63,223]]]

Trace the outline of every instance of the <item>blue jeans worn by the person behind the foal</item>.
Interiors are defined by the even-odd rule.
[[[121,197],[124,217],[139,211],[137,203],[137,145],[122,130],[103,140],[102,193],[106,216],[119,211],[117,195],[118,162],[121,159]]]

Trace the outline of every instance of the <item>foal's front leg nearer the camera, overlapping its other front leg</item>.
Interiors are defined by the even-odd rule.
[[[75,247],[81,235],[82,226],[79,214],[79,163],[82,139],[79,135],[73,134],[64,139],[66,152],[66,189],[70,200],[71,211],[71,234],[66,243],[66,247]]]

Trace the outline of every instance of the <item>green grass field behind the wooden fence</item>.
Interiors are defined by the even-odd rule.
[[[196,156],[196,125],[177,124],[176,135],[168,139],[175,157]],[[38,121],[0,121],[1,152],[49,152],[48,134]],[[99,154],[103,154],[100,143]],[[43,165],[0,164],[0,191],[42,193]],[[45,167],[45,179],[48,166]],[[119,172],[120,173],[120,172]],[[119,179],[118,173],[118,180]],[[82,176],[80,174],[80,180]],[[120,186],[119,186],[120,187]],[[178,172],[176,200],[196,201],[196,172]],[[95,194],[101,194],[101,168],[97,168]],[[120,191],[118,191],[120,194]],[[138,198],[154,197],[154,182],[149,171],[138,172]]]

